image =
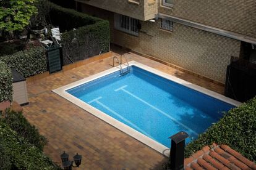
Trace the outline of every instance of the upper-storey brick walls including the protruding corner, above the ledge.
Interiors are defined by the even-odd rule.
[[[75,1],[143,21],[164,13],[256,38],[256,0],[174,0],[172,8],[162,0]]]

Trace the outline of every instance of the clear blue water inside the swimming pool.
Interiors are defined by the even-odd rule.
[[[166,147],[169,136],[186,131],[188,143],[223,111],[234,108],[139,67],[130,68],[127,75],[116,71],[67,92]]]

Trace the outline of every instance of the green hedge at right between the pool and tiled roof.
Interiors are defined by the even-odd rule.
[[[256,161],[256,97],[225,113],[218,123],[186,146],[185,156],[213,142],[229,145],[249,160]]]

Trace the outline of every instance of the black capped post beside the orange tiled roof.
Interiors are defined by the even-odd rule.
[[[185,139],[189,135],[186,132],[178,132],[171,136],[171,154],[170,162],[172,170],[180,170],[184,168],[184,150]]]

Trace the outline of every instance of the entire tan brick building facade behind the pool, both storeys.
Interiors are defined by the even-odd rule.
[[[93,0],[77,9],[109,20],[114,44],[219,83],[241,41],[256,44],[252,0]]]

